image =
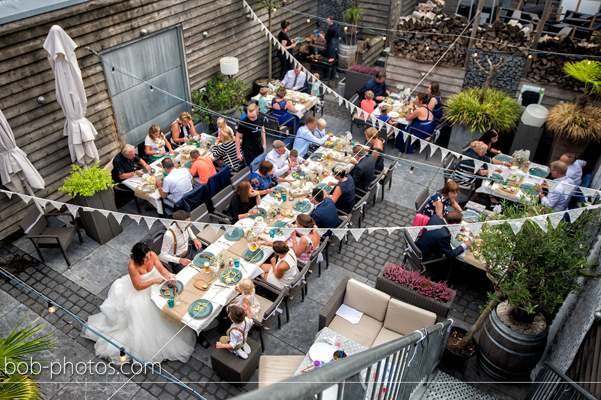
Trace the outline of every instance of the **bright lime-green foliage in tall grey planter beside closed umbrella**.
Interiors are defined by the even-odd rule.
[[[111,173],[104,168],[100,168],[97,162],[93,167],[85,169],[73,166],[73,172],[67,176],[63,186],[59,187],[58,190],[69,193],[73,197],[91,197],[115,185]]]

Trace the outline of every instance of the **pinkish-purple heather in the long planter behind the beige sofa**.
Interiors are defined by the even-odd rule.
[[[384,265],[382,272],[384,278],[443,303],[455,297],[455,291],[448,287],[447,281],[433,282],[430,278],[426,278],[426,276],[421,275],[417,271],[406,270],[404,263],[397,264],[388,261]]]

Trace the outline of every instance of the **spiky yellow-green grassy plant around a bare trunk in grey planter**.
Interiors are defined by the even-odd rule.
[[[444,105],[451,124],[465,125],[472,133],[489,129],[507,132],[516,127],[522,109],[506,92],[489,88],[480,104],[482,89],[469,88],[451,96]]]

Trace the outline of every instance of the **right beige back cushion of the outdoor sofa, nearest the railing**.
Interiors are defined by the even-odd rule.
[[[386,311],[384,327],[401,335],[409,335],[415,330],[432,326],[436,323],[436,314],[425,309],[391,299]]]

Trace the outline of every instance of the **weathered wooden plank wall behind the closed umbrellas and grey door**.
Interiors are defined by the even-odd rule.
[[[266,22],[267,10],[257,2],[249,4]],[[317,2],[289,0],[288,7],[317,13]],[[285,18],[291,22],[291,37],[308,35],[316,28],[302,16],[278,11],[273,18],[275,35]],[[224,55],[239,58],[240,79],[250,81],[267,74],[267,40],[259,25],[246,19],[240,0],[90,0],[0,26],[0,109],[13,128],[17,146],[46,181],[46,188],[36,196],[50,200],[70,200],[58,188],[72,165],[63,136],[65,118],[55,101],[54,75],[42,47],[54,24],[79,46],[76,56],[88,97],[86,117],[99,132],[96,146],[101,165],[111,160],[120,143],[102,63],[86,46],[109,49],[141,37],[142,28],[151,33],[181,24],[191,89],[201,88],[219,73],[219,58]],[[209,32],[207,38],[202,37],[203,31]],[[279,63],[274,67],[276,73]],[[38,104],[38,96],[45,97],[46,103]],[[18,197],[9,200],[0,195],[0,239],[18,229],[24,209]]]

